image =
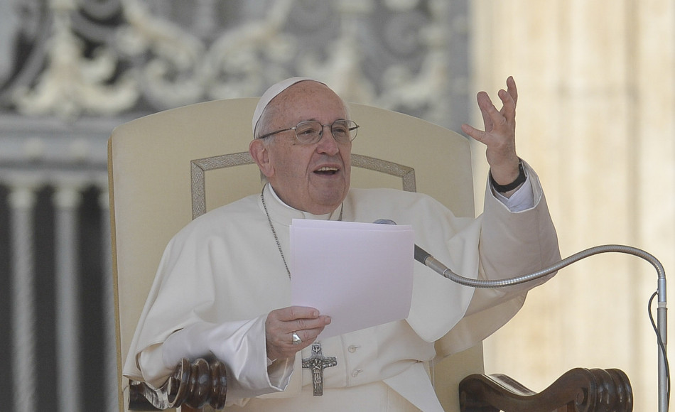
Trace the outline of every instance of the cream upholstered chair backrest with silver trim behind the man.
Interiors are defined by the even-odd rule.
[[[109,190],[121,411],[126,411],[128,387],[121,364],[169,239],[204,209],[261,190],[257,166],[247,163],[246,153],[257,100],[193,104],[130,121],[112,132]],[[416,186],[455,215],[473,217],[465,138],[405,114],[362,104],[350,104],[350,111],[361,126],[352,146],[352,187]],[[220,157],[225,153],[239,154]],[[239,163],[243,165],[223,167]],[[384,173],[371,170],[381,166]],[[434,379],[443,403],[458,405],[458,381],[476,372],[482,373],[480,345],[436,365]]]

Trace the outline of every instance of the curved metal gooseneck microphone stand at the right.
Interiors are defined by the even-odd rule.
[[[525,283],[528,281],[534,281],[543,276],[549,275],[563,269],[564,267],[573,264],[576,261],[587,258],[588,256],[593,256],[595,254],[601,253],[623,253],[631,254],[637,256],[641,259],[648,261],[654,269],[657,270],[658,283],[657,283],[657,293],[658,293],[658,302],[659,306],[657,308],[657,346],[659,352],[659,412],[668,411],[669,405],[669,372],[667,370],[667,360],[666,360],[666,341],[668,339],[667,333],[667,309],[666,309],[666,272],[664,271],[663,265],[657,258],[652,256],[652,254],[647,253],[642,249],[637,249],[632,246],[624,246],[620,244],[608,244],[603,246],[595,246],[589,249],[580,251],[572,256],[569,256],[566,259],[559,261],[556,264],[549,266],[548,268],[541,269],[533,273],[529,273],[523,276],[516,276],[513,278],[499,279],[494,281],[481,281],[477,279],[465,278],[460,276],[457,273],[454,273],[447,266],[443,265],[438,260],[434,259],[431,254],[421,249],[419,246],[415,245],[415,259],[422,264],[433,269],[437,273],[440,273],[442,276],[450,279],[450,281],[459,283],[463,286],[470,286],[472,288],[503,288],[505,286],[518,285],[520,283]],[[650,308],[651,310],[651,308]]]

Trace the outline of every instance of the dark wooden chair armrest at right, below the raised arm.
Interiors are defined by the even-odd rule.
[[[539,394],[502,374],[473,374],[460,382],[463,412],[551,412],[633,410],[628,376],[619,369],[576,368]]]

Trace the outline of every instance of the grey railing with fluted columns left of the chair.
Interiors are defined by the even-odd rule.
[[[0,114],[3,411],[119,411],[105,143],[121,121]]]

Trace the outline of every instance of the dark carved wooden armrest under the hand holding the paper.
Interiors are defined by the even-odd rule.
[[[225,407],[227,373],[217,359],[194,362],[183,359],[173,374],[158,388],[144,382],[129,383],[129,410],[155,411],[178,406],[199,409],[209,404],[214,409]]]

